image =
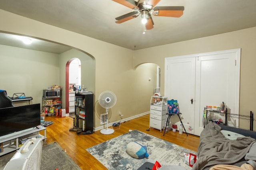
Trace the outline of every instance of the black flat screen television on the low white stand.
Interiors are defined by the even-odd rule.
[[[40,125],[40,104],[0,108],[0,136]]]

